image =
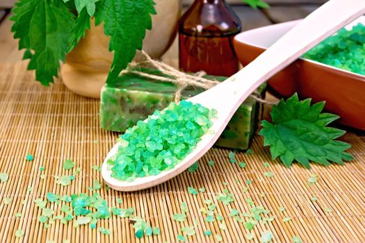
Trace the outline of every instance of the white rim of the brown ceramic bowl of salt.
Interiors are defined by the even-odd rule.
[[[295,26],[296,24],[298,24],[301,21],[302,21],[302,19],[297,19],[297,20],[292,20],[292,21],[289,21],[289,22],[283,22],[283,23],[279,23],[279,24],[272,24],[272,25],[269,25],[269,26],[262,26],[262,27],[259,27],[259,28],[254,28],[252,30],[244,31],[242,33],[239,33],[238,35],[236,35],[234,37],[234,40],[236,42],[239,42],[239,43],[242,43],[242,44],[246,44],[246,45],[250,45],[252,47],[256,47],[256,48],[259,48],[259,49],[266,50],[266,49],[268,49],[268,47],[264,47],[262,44],[257,44],[257,43],[254,43],[253,41],[250,41],[250,40],[245,40],[245,37],[247,37],[247,35],[257,35],[258,33],[263,33],[268,28],[277,28],[279,26]],[[351,22],[350,24],[345,26],[345,28],[349,28],[350,26],[354,26],[355,24],[359,24],[359,23],[362,23],[362,24],[365,25],[365,16],[359,17],[354,22]],[[331,65],[327,65],[325,63],[318,62],[316,60],[311,60],[311,59],[308,59],[308,58],[300,57],[298,59],[300,59],[304,62],[312,63],[313,65],[322,66],[322,67],[325,67],[327,69],[333,69],[334,72],[343,72],[343,74],[350,75],[353,78],[359,79],[359,81],[365,82],[365,75],[363,75],[363,74],[357,74],[355,72],[350,72],[348,70],[340,69],[339,67],[333,67]]]

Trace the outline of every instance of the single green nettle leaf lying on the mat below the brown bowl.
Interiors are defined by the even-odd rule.
[[[343,160],[352,160],[345,151],[350,144],[335,140],[345,134],[338,128],[327,127],[339,118],[322,113],[325,102],[311,106],[311,99],[299,101],[298,94],[273,107],[273,123],[262,121],[259,132],[264,137],[264,146],[270,146],[273,159],[279,157],[286,167],[296,160],[309,168],[309,160],[321,165],[329,161],[343,165]]]

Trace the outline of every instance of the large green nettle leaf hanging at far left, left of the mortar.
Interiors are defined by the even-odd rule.
[[[19,49],[26,49],[28,69],[42,85],[54,83],[60,60],[65,61],[75,16],[64,1],[22,0],[13,9],[12,31],[19,38]]]

